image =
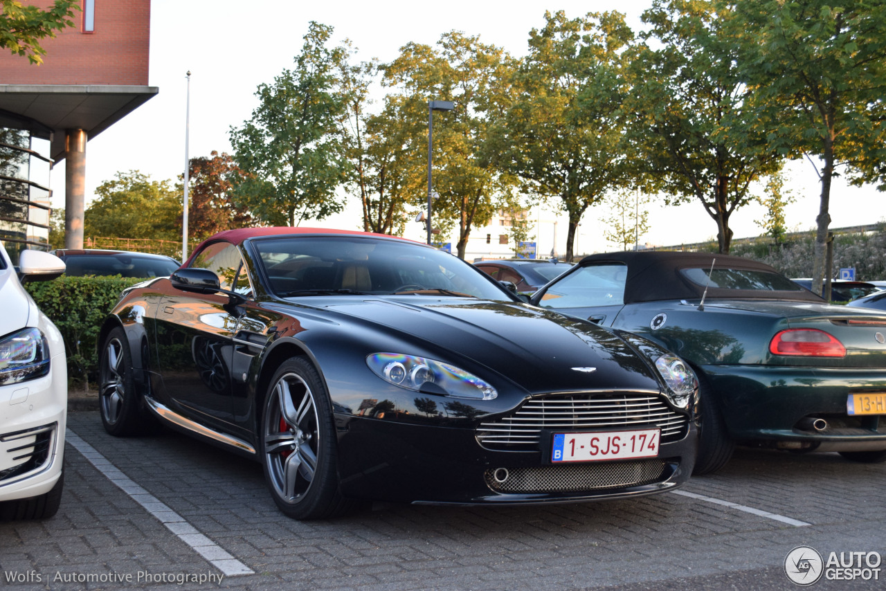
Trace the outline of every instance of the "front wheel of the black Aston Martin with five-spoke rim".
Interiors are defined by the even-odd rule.
[[[354,502],[338,487],[338,458],[329,394],[302,357],[275,372],[261,413],[260,452],[276,506],[295,519],[338,517]]]

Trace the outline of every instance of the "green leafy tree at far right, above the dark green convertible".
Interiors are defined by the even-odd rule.
[[[730,34],[740,41],[743,80],[758,97],[761,117],[778,121],[767,141],[787,156],[820,158],[812,291],[821,293],[838,168],[854,183],[883,178],[886,4],[767,0],[734,6],[738,18]]]

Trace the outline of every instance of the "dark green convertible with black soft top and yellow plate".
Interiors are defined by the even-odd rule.
[[[696,473],[734,443],[886,459],[886,315],[834,306],[773,268],[720,254],[594,254],[532,303],[629,330],[701,383]]]

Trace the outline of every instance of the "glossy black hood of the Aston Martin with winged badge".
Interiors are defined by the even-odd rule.
[[[412,296],[342,298],[325,307],[421,341],[439,351],[438,361],[467,357],[532,393],[659,389],[646,362],[610,330],[523,304]]]

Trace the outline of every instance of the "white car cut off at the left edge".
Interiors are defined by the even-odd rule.
[[[67,417],[65,344],[19,283],[55,278],[65,263],[0,244],[0,519],[52,517],[61,501]]]

